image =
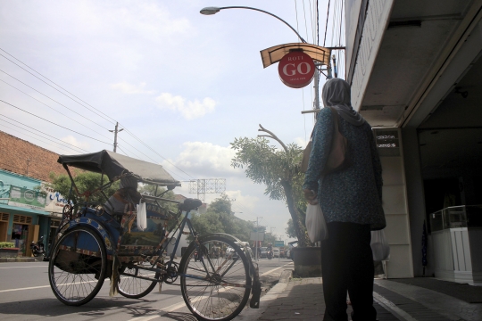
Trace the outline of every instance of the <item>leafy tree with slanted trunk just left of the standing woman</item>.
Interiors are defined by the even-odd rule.
[[[299,171],[302,159],[302,148],[297,144],[284,144],[276,135],[260,125],[259,131],[268,133],[256,138],[235,138],[231,148],[237,151],[231,160],[234,168],[245,168],[246,177],[254,183],[266,185],[265,194],[271,200],[283,200],[287,203],[291,215],[295,235],[299,246],[309,246],[310,239],[306,233],[303,219],[303,178]],[[276,140],[282,150],[270,146],[266,138]],[[303,205],[304,204],[304,205]]]

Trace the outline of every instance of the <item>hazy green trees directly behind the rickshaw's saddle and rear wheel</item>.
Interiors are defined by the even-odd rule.
[[[194,215],[191,222],[199,235],[227,233],[245,242],[249,242],[253,230],[252,222],[237,218],[232,214],[231,202],[228,195],[225,194],[211,202],[205,213]]]

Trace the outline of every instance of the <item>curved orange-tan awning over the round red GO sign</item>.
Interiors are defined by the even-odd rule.
[[[312,60],[321,62],[323,65],[329,66],[329,55],[331,49],[320,45],[310,45],[303,43],[293,43],[285,45],[275,45],[268,49],[262,50],[262,67],[266,68],[273,63],[279,62],[287,53],[293,50],[300,50],[312,57]]]

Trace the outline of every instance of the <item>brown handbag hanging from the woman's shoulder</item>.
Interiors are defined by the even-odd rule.
[[[327,175],[338,170],[346,169],[351,165],[348,157],[348,140],[345,138],[345,136],[341,135],[338,128],[338,112],[332,107],[328,108],[331,110],[334,118],[334,131],[331,140],[331,150],[328,154],[328,160],[325,164],[325,169],[323,169],[320,175]],[[303,173],[306,173],[306,170],[308,170],[308,161],[310,161],[310,153],[312,152],[312,137],[313,132],[312,136],[310,137],[310,142],[308,142],[303,151],[303,161],[300,166],[300,171]]]

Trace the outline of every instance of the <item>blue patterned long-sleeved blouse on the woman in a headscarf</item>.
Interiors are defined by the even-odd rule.
[[[320,176],[333,136],[333,115],[329,108],[318,114],[313,137],[312,153],[304,177],[303,189],[318,192],[321,210],[327,223],[350,222],[370,224],[372,230],[386,226],[382,199],[382,169],[375,138],[370,125],[354,126],[342,117],[340,133],[348,140],[352,166],[342,171]]]

